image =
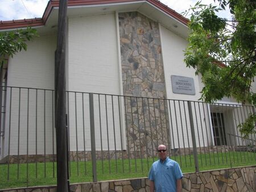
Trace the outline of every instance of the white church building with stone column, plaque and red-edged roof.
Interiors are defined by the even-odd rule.
[[[1,66],[0,162],[51,160],[56,153],[58,11],[59,1],[52,0],[42,18],[0,22],[0,32],[30,26],[39,34],[27,42],[27,51]],[[237,126],[253,107],[232,98],[214,105],[199,101],[200,76],[184,63],[187,18],[156,0],[73,0],[67,15],[72,160],[90,158],[89,93],[94,93],[97,158],[113,157],[117,151],[154,156],[160,143],[168,145],[169,152],[185,153],[192,148],[192,123],[202,151],[246,145]],[[255,135],[250,138],[255,140]]]

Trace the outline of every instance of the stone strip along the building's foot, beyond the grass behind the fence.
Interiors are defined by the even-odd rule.
[[[245,152],[248,151],[246,147],[231,147],[228,145],[222,146],[211,146],[211,147],[197,147],[197,154],[200,153],[217,153],[217,152]],[[168,151],[169,153],[169,151]],[[175,148],[170,149],[171,156],[179,155],[193,155],[193,148]],[[158,157],[156,151],[96,151],[96,160],[109,160],[109,159],[133,159],[133,158],[150,158],[154,154],[154,157]],[[90,151],[71,151],[69,152],[70,161],[90,161],[92,160],[92,155]],[[0,160],[0,163],[5,164],[9,162],[10,164],[16,163],[26,163],[26,162],[53,162],[56,161],[56,155],[10,155]]]

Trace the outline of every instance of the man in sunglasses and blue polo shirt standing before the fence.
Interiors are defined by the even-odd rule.
[[[166,145],[158,146],[159,160],[155,161],[148,174],[150,192],[180,192],[181,172],[179,164],[167,156]]]

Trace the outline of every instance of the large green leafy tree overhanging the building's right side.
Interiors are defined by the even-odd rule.
[[[233,97],[256,106],[256,93],[251,89],[256,75],[256,1],[218,2],[218,6],[213,6],[199,1],[185,11],[191,16],[185,63],[201,74],[203,101],[211,103]],[[217,16],[218,11],[225,9],[232,14],[231,20]],[[256,133],[255,121],[256,115],[250,114],[240,124],[243,137]]]

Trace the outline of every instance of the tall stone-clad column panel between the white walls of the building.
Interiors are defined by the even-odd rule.
[[[151,156],[153,151],[156,155],[158,144],[168,145],[170,135],[159,26],[139,12],[118,16],[123,94],[129,96],[125,98],[127,148],[132,156]]]

